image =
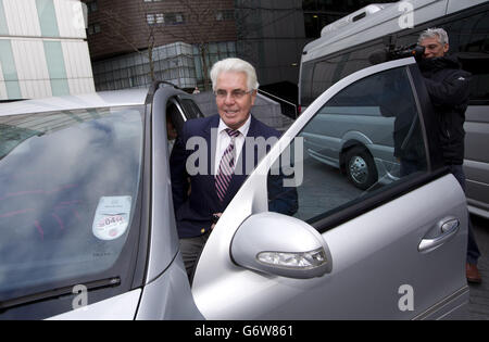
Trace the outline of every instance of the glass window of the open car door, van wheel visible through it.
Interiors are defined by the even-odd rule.
[[[294,178],[293,216],[314,224],[426,169],[419,113],[408,69],[401,67],[360,79],[334,96],[271,173]],[[290,179],[284,180],[291,187]]]

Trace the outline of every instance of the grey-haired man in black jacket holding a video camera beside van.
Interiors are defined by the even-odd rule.
[[[464,162],[464,122],[468,103],[468,80],[471,74],[461,69],[455,56],[448,56],[449,38],[442,28],[428,28],[418,38],[418,45],[425,48],[418,61],[426,88],[438,118],[438,135],[444,164],[459,180],[465,191]],[[471,218],[468,218],[468,242],[466,277],[469,282],[481,282],[477,259],[480,256],[475,241]]]

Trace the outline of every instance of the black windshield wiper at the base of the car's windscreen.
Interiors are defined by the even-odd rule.
[[[17,296],[14,299],[9,299],[7,301],[0,302],[0,313],[5,312],[9,308],[13,308],[16,306],[33,304],[37,302],[43,302],[52,299],[57,299],[63,295],[76,294],[73,292],[73,289],[80,283],[76,283],[68,287],[63,287],[54,290],[38,292],[34,294],[27,294]],[[100,290],[105,288],[114,288],[121,284],[120,277],[112,277],[106,279],[93,280],[86,283],[83,283],[87,288],[87,291]]]

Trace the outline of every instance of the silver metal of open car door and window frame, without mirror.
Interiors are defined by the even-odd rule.
[[[321,278],[290,279],[260,274],[237,266],[229,255],[233,237],[241,223],[268,210],[267,192],[263,191],[268,165],[323,104],[358,79],[414,63],[414,59],[392,61],[343,78],[314,101],[271,149],[223,213],[200,256],[192,293],[205,318],[413,319],[421,315],[441,318],[460,306],[455,299],[462,296],[462,302],[467,302],[464,273],[467,211],[462,189],[452,175],[324,232],[322,237],[334,267]],[[427,211],[427,203],[437,205]],[[432,252],[418,252],[419,242],[435,235],[439,221],[448,216],[460,220],[459,232]],[[414,290],[413,311],[399,308],[399,291],[404,284]],[[444,305],[437,306],[439,303]]]

